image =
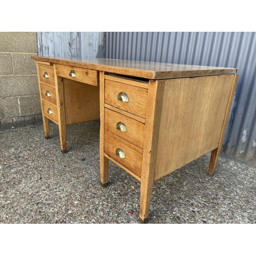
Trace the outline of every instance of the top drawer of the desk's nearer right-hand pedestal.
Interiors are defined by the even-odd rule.
[[[105,103],[145,118],[147,89],[106,79]]]

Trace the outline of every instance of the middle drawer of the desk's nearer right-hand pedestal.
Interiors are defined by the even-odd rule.
[[[105,108],[104,129],[143,148],[145,125],[139,121]]]

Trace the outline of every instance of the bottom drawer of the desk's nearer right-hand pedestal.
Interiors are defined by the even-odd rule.
[[[118,153],[118,150],[122,152]],[[104,153],[116,160],[118,163],[131,170],[134,174],[141,177],[142,168],[142,154],[134,150],[133,148],[123,144],[117,139],[112,138],[108,134],[104,133]],[[125,158],[120,158],[125,156]]]

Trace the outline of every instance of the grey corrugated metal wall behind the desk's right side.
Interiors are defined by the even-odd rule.
[[[224,152],[256,162],[256,32],[106,32],[106,58],[238,68]]]

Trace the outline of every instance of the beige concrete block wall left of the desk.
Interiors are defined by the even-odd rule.
[[[41,122],[36,32],[0,32],[0,129]]]

